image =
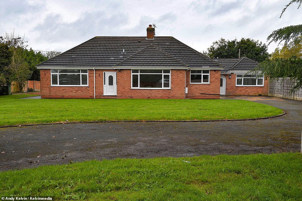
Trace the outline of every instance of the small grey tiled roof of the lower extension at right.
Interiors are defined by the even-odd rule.
[[[221,70],[222,73],[226,73],[229,71],[251,71],[253,70],[259,63],[251,60],[247,57],[241,58],[233,58],[233,59],[213,59],[216,62],[222,64],[224,69]]]

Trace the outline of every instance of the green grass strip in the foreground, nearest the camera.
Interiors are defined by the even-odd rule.
[[[59,200],[301,200],[301,164],[300,153],[87,161],[0,172],[0,192]]]

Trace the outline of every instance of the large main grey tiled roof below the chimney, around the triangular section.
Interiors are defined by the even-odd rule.
[[[150,44],[155,45],[158,49],[173,57],[173,63],[175,63],[175,60],[179,60],[190,68],[223,68],[217,62],[170,36],[154,37],[154,40],[147,40],[146,37],[97,36],[67,50],[59,56],[38,64],[37,67],[110,68]],[[125,50],[124,53],[123,49]],[[163,53],[160,54],[162,55]],[[155,58],[157,57],[156,54],[154,56]],[[148,60],[152,60],[152,58]],[[134,58],[131,61],[134,61]],[[135,66],[134,63],[133,65]],[[165,65],[170,66],[167,63]]]

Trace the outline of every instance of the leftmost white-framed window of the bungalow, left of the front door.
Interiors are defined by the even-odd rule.
[[[52,86],[88,86],[88,70],[51,69]]]

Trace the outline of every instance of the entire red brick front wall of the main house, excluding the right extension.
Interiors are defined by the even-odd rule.
[[[116,71],[117,96],[104,96],[104,71],[95,70],[95,98],[185,98],[185,72],[188,93],[186,98],[219,98],[220,70],[210,71],[210,84],[190,84],[190,71],[171,70],[171,89],[131,89],[131,70]],[[50,69],[40,70],[42,98],[94,98],[94,71],[88,70],[89,87],[51,86]],[[228,80],[227,80],[228,83]],[[208,93],[208,94],[201,94]]]

